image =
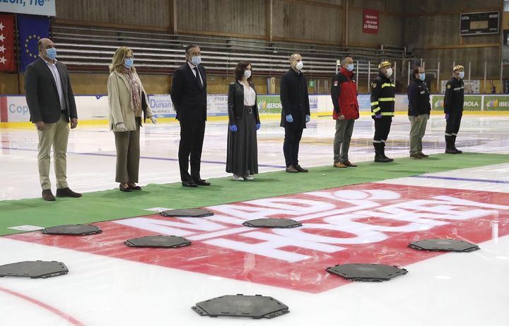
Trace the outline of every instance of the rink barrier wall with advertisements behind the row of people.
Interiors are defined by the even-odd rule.
[[[151,109],[160,121],[175,121],[175,110],[168,94],[148,95]],[[358,95],[361,115],[370,115],[370,95]],[[78,117],[83,124],[101,124],[107,121],[107,95],[76,95]],[[262,117],[279,117],[281,100],[279,95],[259,95],[257,99],[259,114]],[[432,95],[431,106],[434,112],[443,112],[443,95]],[[330,95],[310,95],[311,115],[332,115]],[[396,95],[397,114],[406,114],[408,98],[406,94]],[[464,110],[467,113],[509,114],[509,95],[465,95]],[[209,120],[228,119],[228,95],[207,95],[207,117]],[[0,95],[0,127],[15,127],[28,124],[30,112],[24,95]]]

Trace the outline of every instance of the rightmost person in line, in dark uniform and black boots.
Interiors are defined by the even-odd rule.
[[[457,65],[453,69],[453,76],[445,85],[444,114],[447,121],[445,127],[445,153],[461,154],[456,148],[456,136],[460,131],[464,102],[464,68]]]

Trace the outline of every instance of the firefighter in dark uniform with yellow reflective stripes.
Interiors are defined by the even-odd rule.
[[[392,68],[390,62],[378,65],[379,75],[371,83],[371,117],[375,120],[375,162],[392,162],[392,158],[385,156],[385,141],[390,132],[392,117],[394,116],[395,88],[390,80]]]

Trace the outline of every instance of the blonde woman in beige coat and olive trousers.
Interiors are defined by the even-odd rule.
[[[124,192],[141,190],[136,185],[139,174],[139,132],[141,115],[153,117],[147,96],[133,66],[133,52],[129,47],[119,47],[110,65],[107,81],[110,130],[115,134],[117,148],[117,173],[115,181]]]

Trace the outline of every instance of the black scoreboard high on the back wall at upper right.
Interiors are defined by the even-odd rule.
[[[460,13],[460,35],[498,34],[500,11]]]

